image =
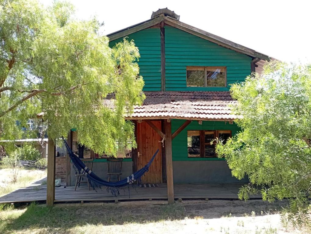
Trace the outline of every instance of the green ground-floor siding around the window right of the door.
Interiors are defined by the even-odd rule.
[[[176,131],[185,121],[184,120],[171,120],[172,133]],[[173,161],[217,161],[224,160],[223,158],[188,158],[187,147],[187,131],[188,130],[231,130],[232,136],[240,131],[239,127],[233,123],[221,121],[202,121],[200,125],[197,121],[191,122],[183,131],[181,131],[172,140],[172,158]]]

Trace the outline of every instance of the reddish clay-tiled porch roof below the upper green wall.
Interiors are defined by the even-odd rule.
[[[146,99],[142,106],[135,106],[128,119],[193,119],[233,121],[231,113],[236,103],[228,91],[180,91],[144,92]]]

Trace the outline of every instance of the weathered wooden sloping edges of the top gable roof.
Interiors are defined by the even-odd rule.
[[[152,17],[149,20],[143,21],[141,23],[138,23],[136,25],[129,26],[127,28],[124,28],[122,30],[118,30],[114,33],[107,34],[110,41],[113,41],[118,38],[125,37],[129,34],[138,32],[140,30],[144,30],[146,28],[152,27],[154,25],[161,24],[161,22],[164,22],[166,25],[170,25],[172,27],[178,28],[180,30],[183,30],[185,32],[188,32],[190,34],[196,35],[198,37],[201,37],[203,39],[206,39],[208,41],[214,42],[222,47],[234,50],[239,53],[246,54],[252,58],[259,58],[266,61],[270,61],[270,57],[268,55],[259,53],[253,49],[247,48],[243,45],[234,43],[230,40],[224,39],[222,37],[219,37],[217,35],[211,34],[209,32],[206,32],[204,30],[198,29],[196,27],[193,27],[191,25],[185,24],[183,22],[180,22],[177,19],[174,19],[173,17],[166,16],[165,14],[160,14]]]

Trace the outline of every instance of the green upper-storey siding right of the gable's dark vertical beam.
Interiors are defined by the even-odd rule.
[[[165,26],[166,91],[227,91],[251,73],[252,58],[174,27]],[[227,67],[227,87],[187,87],[187,66]]]

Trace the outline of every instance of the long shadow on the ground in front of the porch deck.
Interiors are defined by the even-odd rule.
[[[76,226],[122,225],[126,223],[149,223],[162,220],[180,220],[196,216],[210,219],[222,217],[257,216],[277,213],[285,202],[269,204],[262,200],[188,200],[165,201],[130,201],[114,203],[57,204],[48,208],[41,204],[31,204],[23,209],[2,211],[4,219],[0,232],[20,232],[44,229],[44,232],[67,233]],[[4,212],[15,212],[16,216],[4,217]],[[20,214],[18,214],[20,212]],[[27,232],[27,233],[28,233]],[[30,232],[31,233],[31,232]]]

